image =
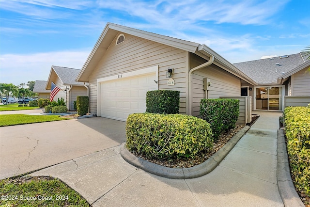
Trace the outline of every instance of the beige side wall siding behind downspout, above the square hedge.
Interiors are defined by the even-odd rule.
[[[210,65],[207,68],[194,71],[192,75],[192,115],[198,116],[200,110],[200,100],[206,98],[203,90],[203,79],[211,81],[208,98],[218,98],[220,96],[240,96],[241,80],[227,71]]]

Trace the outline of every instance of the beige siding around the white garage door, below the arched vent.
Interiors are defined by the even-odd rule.
[[[90,112],[97,113],[97,79],[158,65],[158,89],[180,91],[180,112],[185,113],[186,52],[129,34],[124,35],[125,42],[116,46],[115,38],[93,70],[90,77]],[[167,85],[168,67],[174,68],[174,86]]]

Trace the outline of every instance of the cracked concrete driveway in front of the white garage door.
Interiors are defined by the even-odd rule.
[[[0,179],[21,175],[125,141],[125,122],[102,117],[0,127]]]

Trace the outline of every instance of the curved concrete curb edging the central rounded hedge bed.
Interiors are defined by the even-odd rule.
[[[121,156],[129,164],[138,167],[146,172],[158,175],[161,177],[172,178],[172,179],[189,179],[201,177],[212,172],[217,165],[228,155],[228,153],[233,149],[236,143],[241,139],[241,137],[248,131],[250,127],[243,127],[233,138],[228,141],[222,148],[220,148],[212,157],[204,161],[202,164],[196,165],[189,168],[169,168],[161,165],[154,164],[147,160],[136,157],[131,154],[129,150],[125,147],[125,143],[121,146]]]

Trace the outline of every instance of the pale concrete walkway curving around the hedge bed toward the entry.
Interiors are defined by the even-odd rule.
[[[281,112],[255,111],[257,122],[210,174],[169,179],[128,164],[120,146],[32,175],[60,178],[93,207],[281,207],[277,186],[277,129]]]

